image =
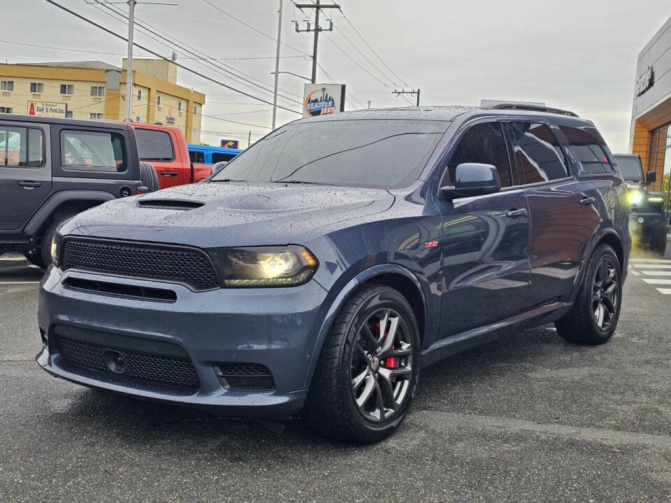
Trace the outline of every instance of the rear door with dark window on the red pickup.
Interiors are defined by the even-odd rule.
[[[180,150],[175,145],[173,135],[168,131],[134,126],[140,161],[152,163],[159,175],[159,187],[166,189],[189,183],[191,173],[184,169],[184,166],[189,166],[189,161],[180,158]]]

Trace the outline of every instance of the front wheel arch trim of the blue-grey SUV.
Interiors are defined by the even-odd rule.
[[[326,337],[329,336],[333,321],[335,321],[335,317],[338,316],[338,312],[340,312],[342,305],[344,305],[345,302],[347,302],[347,299],[361,286],[364,284],[375,283],[389,286],[403,295],[405,300],[410,304],[415,318],[417,319],[420,340],[424,340],[424,330],[426,330],[426,326],[428,325],[428,312],[426,308],[426,297],[417,276],[402,265],[395,263],[373,265],[373,267],[359,272],[358,275],[350,279],[349,282],[335,295],[335,298],[329,296],[329,299],[332,299],[331,306],[329,307],[326,316],[324,316],[324,321],[322,322],[319,334],[317,335],[317,340],[315,341],[315,347],[310,354],[310,364],[308,365],[308,372],[305,375],[304,388],[310,386],[312,377],[315,374],[315,367],[317,367],[317,360],[319,360],[319,355],[322,353],[322,347],[324,346]],[[418,293],[419,295],[417,295]]]

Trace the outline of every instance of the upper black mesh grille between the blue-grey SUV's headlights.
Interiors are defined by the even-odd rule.
[[[60,267],[187,284],[196,291],[219,287],[204,251],[150,243],[65,238]]]

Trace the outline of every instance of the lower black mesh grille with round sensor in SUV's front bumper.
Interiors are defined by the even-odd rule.
[[[61,356],[73,365],[106,372],[121,379],[135,379],[181,388],[200,387],[198,374],[196,374],[196,369],[191,360],[117,351],[122,355],[125,366],[124,372],[117,374],[110,370],[106,360],[106,352],[109,349],[59,335],[55,335],[55,340]]]

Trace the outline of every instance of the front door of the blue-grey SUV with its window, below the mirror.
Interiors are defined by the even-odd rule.
[[[481,122],[463,133],[449,156],[441,185],[461,163],[496,166],[497,194],[438,201],[442,214],[441,335],[484,326],[526,309],[529,284],[529,215],[517,185],[500,122]]]

